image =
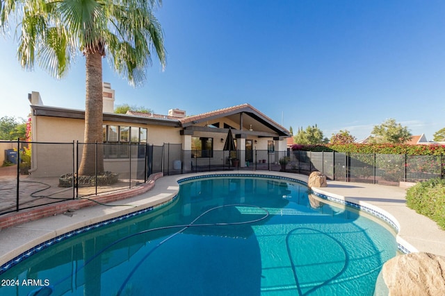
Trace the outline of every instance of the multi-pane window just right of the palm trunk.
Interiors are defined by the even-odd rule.
[[[140,151],[145,151],[147,128],[104,125],[102,133],[104,135],[105,158],[128,158],[130,157],[130,151],[131,157],[145,157],[145,153],[140,153]],[[135,146],[132,148],[130,143]]]

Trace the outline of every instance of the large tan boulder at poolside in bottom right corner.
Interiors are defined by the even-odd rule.
[[[382,268],[390,296],[445,295],[445,257],[430,253],[396,256]]]

